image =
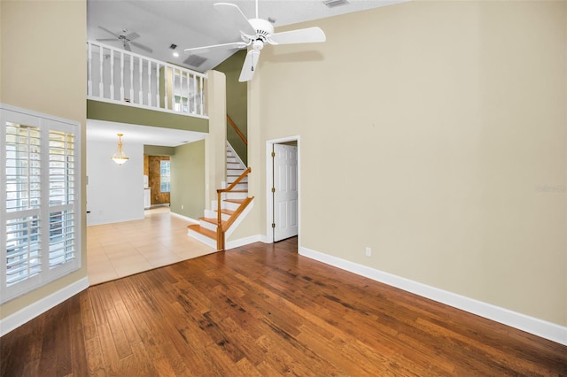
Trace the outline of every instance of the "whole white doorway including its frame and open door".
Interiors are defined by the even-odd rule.
[[[266,142],[266,235],[268,242],[298,236],[299,135]]]

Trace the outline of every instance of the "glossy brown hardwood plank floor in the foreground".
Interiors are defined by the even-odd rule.
[[[2,376],[566,375],[567,347],[254,243],[84,290],[0,339]]]

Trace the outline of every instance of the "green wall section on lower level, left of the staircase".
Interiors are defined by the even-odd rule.
[[[202,217],[205,211],[205,141],[176,147],[170,161],[171,212],[191,219]]]

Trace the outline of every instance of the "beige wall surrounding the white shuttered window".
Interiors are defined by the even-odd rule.
[[[0,102],[81,122],[84,177],[86,2],[3,0],[0,14]],[[84,213],[84,186],[82,199]],[[87,276],[86,236],[81,248],[80,271],[0,306],[0,318]]]

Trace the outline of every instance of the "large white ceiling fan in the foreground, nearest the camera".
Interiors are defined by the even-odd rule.
[[[214,49],[245,49],[248,50],[245,58],[245,64],[240,72],[238,81],[250,81],[256,70],[258,58],[260,58],[260,50],[264,48],[266,43],[269,44],[291,44],[291,43],[309,43],[309,42],[325,42],[325,34],[319,27],[307,27],[296,29],[282,33],[274,33],[274,27],[267,19],[258,17],[258,0],[256,0],[256,18],[247,19],[245,14],[238,8],[236,4],[216,3],[214,9],[234,20],[240,30],[240,38],[242,42],[230,42],[222,44],[214,44],[211,46],[196,47],[185,49],[188,54],[203,53]]]

